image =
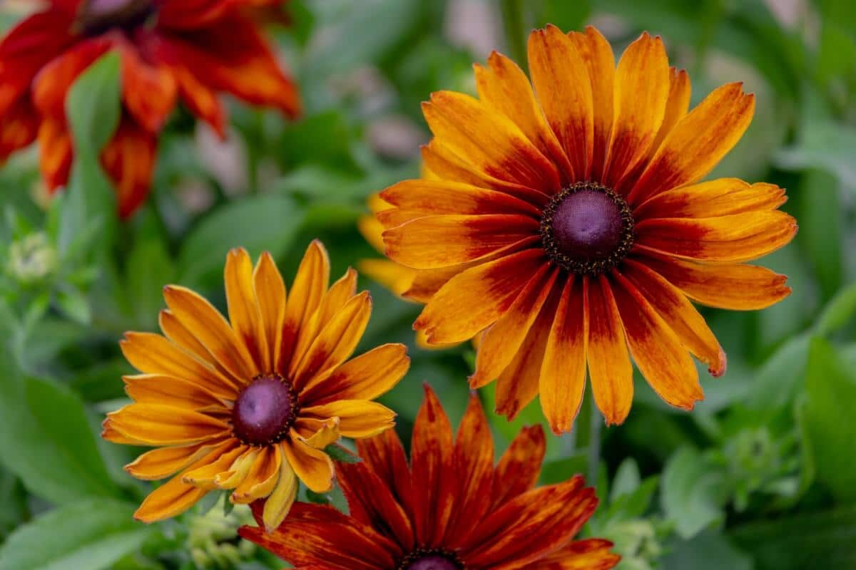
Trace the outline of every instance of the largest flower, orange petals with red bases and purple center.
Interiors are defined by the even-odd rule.
[[[687,113],[687,73],[647,33],[617,68],[593,27],[536,30],[528,53],[534,91],[493,53],[475,67],[478,99],[434,93],[423,158],[441,179],[381,194],[395,206],[377,216],[386,253],[419,270],[414,328],[430,343],[484,331],[470,385],[498,379],[509,418],[540,393],[556,433],[571,429],[586,364],[606,421],[625,420],[630,356],[663,400],[692,409],[704,394],[690,353],[716,376],[726,360],[689,299],[763,309],[790,292],[744,263],[794,237],[784,191],[698,182],[746,130],[754,97],[723,85]]]

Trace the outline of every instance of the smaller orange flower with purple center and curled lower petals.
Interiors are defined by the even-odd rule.
[[[351,360],[366,330],[372,299],[355,294],[357,273],[328,288],[330,261],[312,242],[286,302],[269,254],[255,268],[245,250],[226,259],[229,321],[203,297],[164,288],[165,336],[128,332],[122,352],[140,374],[124,378],[134,403],[108,414],[103,437],[152,445],[125,469],[163,479],[137,510],[152,522],[180,514],[207,492],[229,489],[235,503],[268,497],[263,520],[288,513],[298,479],[330,491],[333,464],[324,448],[341,435],[366,438],[395,414],[371,400],[407,372],[401,344]]]

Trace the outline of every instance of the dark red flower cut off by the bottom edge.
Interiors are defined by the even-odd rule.
[[[601,570],[619,560],[609,541],[574,540],[597,507],[579,475],[535,488],[544,460],[540,426],[520,432],[494,466],[475,395],[453,439],[425,386],[409,468],[392,430],[360,441],[358,450],[360,463],[336,464],[350,515],[296,503],[276,532],[243,526],[241,537],[317,570]],[[261,510],[253,505],[257,519]]]

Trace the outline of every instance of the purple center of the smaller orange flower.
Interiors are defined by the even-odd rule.
[[[257,376],[235,400],[232,428],[248,445],[275,444],[297,417],[297,394],[278,374]]]

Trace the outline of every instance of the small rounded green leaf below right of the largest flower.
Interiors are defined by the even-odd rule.
[[[663,469],[660,502],[681,538],[693,538],[725,514],[723,474],[691,447],[675,451]]]

